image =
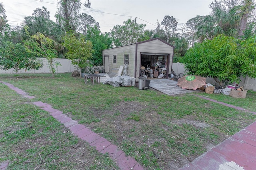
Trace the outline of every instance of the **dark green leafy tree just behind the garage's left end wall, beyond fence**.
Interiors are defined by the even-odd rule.
[[[92,63],[94,65],[102,65],[102,50],[108,49],[112,45],[111,38],[108,33],[102,34],[98,27],[89,27],[86,39],[93,44]]]

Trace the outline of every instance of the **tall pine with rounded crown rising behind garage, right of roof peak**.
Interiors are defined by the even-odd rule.
[[[178,22],[173,16],[164,16],[161,24],[164,27],[165,36],[173,37],[175,35]]]

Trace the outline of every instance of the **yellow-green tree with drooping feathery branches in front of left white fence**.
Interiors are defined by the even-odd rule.
[[[29,33],[27,32],[27,34]],[[54,77],[56,71],[54,65],[60,65],[60,63],[55,62],[54,59],[57,58],[58,51],[63,50],[63,46],[40,32],[30,36],[24,43],[31,53],[39,57],[46,57],[49,69],[52,72],[52,77]]]

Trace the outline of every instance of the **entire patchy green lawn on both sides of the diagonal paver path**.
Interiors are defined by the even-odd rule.
[[[34,101],[48,103],[78,120],[148,170],[178,169],[256,118],[200,99],[195,93],[168,96],[136,87],[85,85],[84,79],[71,73],[54,78],[50,74],[21,74],[18,78],[2,74],[0,81],[36,97],[22,98],[0,83],[0,161],[10,160],[10,169],[39,165],[44,169],[79,169],[84,164],[88,169],[118,169],[107,155],[99,154],[32,105]],[[248,91],[246,99],[222,94],[209,97],[255,111],[255,95]]]

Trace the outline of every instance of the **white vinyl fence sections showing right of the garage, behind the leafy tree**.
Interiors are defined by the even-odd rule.
[[[172,69],[174,73],[186,74],[184,65],[182,63],[172,63]],[[243,86],[244,89],[256,91],[256,79],[249,78],[248,76],[247,77],[241,76],[240,80],[241,82],[239,85]],[[206,83],[211,83],[212,85],[218,85],[218,83],[216,83],[216,81],[211,77],[207,77]]]

